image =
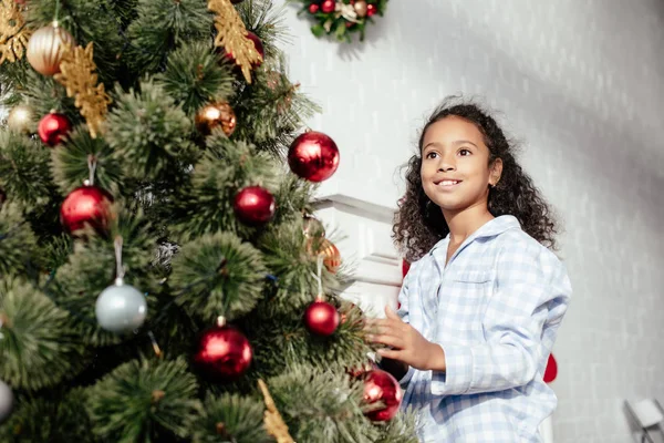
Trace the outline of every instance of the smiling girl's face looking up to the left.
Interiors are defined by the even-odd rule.
[[[497,158],[489,167],[489,148],[475,124],[447,116],[426,130],[422,146],[422,186],[432,202],[444,213],[487,207],[502,162]]]

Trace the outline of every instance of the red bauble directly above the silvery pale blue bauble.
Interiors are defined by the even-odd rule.
[[[105,231],[111,218],[113,197],[97,186],[81,186],[66,196],[60,208],[60,222],[65,230],[74,233],[90,225]]]

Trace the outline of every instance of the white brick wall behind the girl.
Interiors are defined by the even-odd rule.
[[[554,440],[631,441],[623,400],[664,400],[664,2],[394,0],[350,47],[315,40],[286,8],[291,78],[323,106],[311,127],[341,150],[322,194],[384,225],[367,253],[359,222],[338,217],[353,238],[342,251],[392,264],[369,280],[394,286],[388,217],[362,207],[395,206],[396,167],[440,99],[484,97],[566,227],[574,298],[554,347]]]

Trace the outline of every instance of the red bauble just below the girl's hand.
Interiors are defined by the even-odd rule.
[[[365,415],[374,422],[392,420],[398,412],[403,393],[398,382],[390,372],[381,369],[369,371],[364,378],[364,402],[374,404],[381,402],[380,409],[372,409]]]

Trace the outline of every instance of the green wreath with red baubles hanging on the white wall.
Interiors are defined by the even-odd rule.
[[[300,14],[317,21],[311,27],[315,37],[333,35],[339,41],[352,42],[352,34],[364,40],[364,30],[374,16],[383,16],[387,0],[291,0],[302,3]]]

